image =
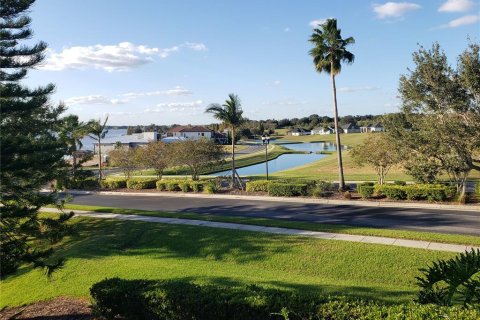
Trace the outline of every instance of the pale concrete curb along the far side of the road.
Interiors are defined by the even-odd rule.
[[[406,209],[438,209],[450,211],[471,211],[480,215],[480,206],[477,205],[445,205],[430,203],[401,203],[401,202],[379,202],[379,201],[355,201],[355,200],[333,200],[333,199],[312,199],[312,198],[287,198],[267,196],[243,196],[243,195],[220,195],[180,192],[116,192],[116,191],[84,191],[69,190],[72,195],[113,195],[113,196],[145,196],[145,197],[177,197],[177,198],[201,198],[201,199],[232,199],[232,200],[253,200],[288,203],[324,204],[332,206],[358,206],[358,207],[379,207],[379,208],[406,208]]]

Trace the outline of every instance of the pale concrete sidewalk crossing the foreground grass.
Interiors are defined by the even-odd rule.
[[[42,212],[58,212],[58,210],[54,208],[42,208],[41,211]],[[127,215],[127,214],[116,214],[116,213],[99,213],[99,212],[81,211],[81,210],[66,210],[66,211],[73,211],[76,216],[80,216],[80,217],[117,219],[117,220],[126,220],[126,221],[144,221],[144,222],[155,222],[155,223],[165,223],[165,224],[181,224],[181,225],[201,226],[201,227],[220,228],[220,229],[232,229],[232,230],[242,230],[242,231],[252,231],[252,232],[265,232],[265,233],[272,233],[272,234],[304,236],[304,237],[317,238],[317,239],[383,244],[383,245],[390,245],[390,246],[437,250],[437,251],[464,252],[466,250],[471,250],[471,249],[480,249],[480,247],[472,247],[472,246],[459,245],[459,244],[351,235],[351,234],[343,234],[343,233],[331,233],[331,232],[309,231],[309,230],[277,228],[277,227],[264,227],[264,226],[238,224],[238,223],[178,219],[178,218],[161,218],[161,217],[149,217],[149,216],[142,216],[142,215]]]

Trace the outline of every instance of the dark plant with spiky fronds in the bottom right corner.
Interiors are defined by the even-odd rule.
[[[480,250],[466,251],[449,260],[438,260],[417,277],[420,303],[439,305],[480,304]]]

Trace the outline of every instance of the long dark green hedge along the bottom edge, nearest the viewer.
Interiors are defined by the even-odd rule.
[[[185,281],[106,279],[90,289],[107,319],[479,319],[478,309],[417,303],[385,305],[258,286],[220,287]]]

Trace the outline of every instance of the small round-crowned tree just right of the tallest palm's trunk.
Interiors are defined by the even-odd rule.
[[[388,171],[402,160],[402,155],[387,135],[368,135],[362,144],[352,149],[352,157],[359,165],[373,166],[377,172],[378,184],[384,184]]]

